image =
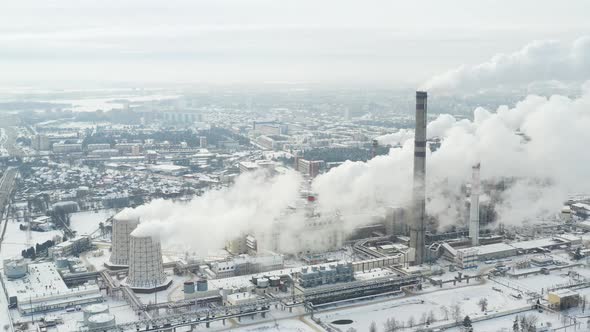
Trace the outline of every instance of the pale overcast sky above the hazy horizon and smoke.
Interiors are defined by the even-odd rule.
[[[0,85],[418,84],[590,35],[587,0],[3,1]]]

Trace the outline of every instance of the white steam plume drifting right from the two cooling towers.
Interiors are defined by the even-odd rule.
[[[140,217],[134,235],[160,237],[167,245],[206,252],[252,229],[270,229],[298,197],[300,183],[294,171],[272,177],[251,172],[229,188],[208,191],[190,202],[155,200],[121,213]]]

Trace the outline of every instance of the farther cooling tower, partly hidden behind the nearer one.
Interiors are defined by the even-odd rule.
[[[112,253],[107,266],[126,267],[129,265],[129,235],[139,225],[138,217],[118,213],[113,218]]]

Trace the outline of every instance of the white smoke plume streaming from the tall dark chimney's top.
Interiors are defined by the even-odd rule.
[[[426,82],[422,89],[436,92],[472,93],[482,89],[529,86],[531,89],[559,87],[562,82],[590,78],[590,36],[571,45],[557,41],[535,41],[520,51],[498,54],[490,61],[447,71]],[[555,91],[555,90],[553,90]]]

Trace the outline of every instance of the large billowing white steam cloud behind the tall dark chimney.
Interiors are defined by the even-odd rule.
[[[585,85],[587,86],[587,84]],[[427,212],[441,223],[460,222],[452,198],[481,162],[483,181],[512,178],[498,207],[508,224],[556,213],[568,193],[590,192],[590,91],[581,97],[529,96],[514,108],[478,108],[474,120],[440,115],[428,136],[442,138],[427,155]],[[313,183],[322,210],[344,215],[408,204],[412,188],[413,137],[405,136],[388,156],[366,163],[346,162]]]

